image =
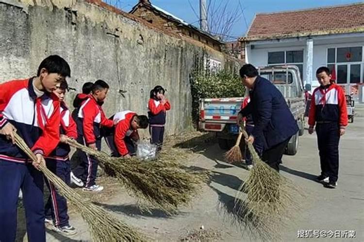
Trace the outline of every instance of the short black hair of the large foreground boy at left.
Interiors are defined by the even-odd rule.
[[[63,77],[71,76],[71,68],[69,68],[67,61],[57,55],[49,56],[40,63],[37,76],[40,76],[42,68],[46,69],[48,73],[57,73]]]

